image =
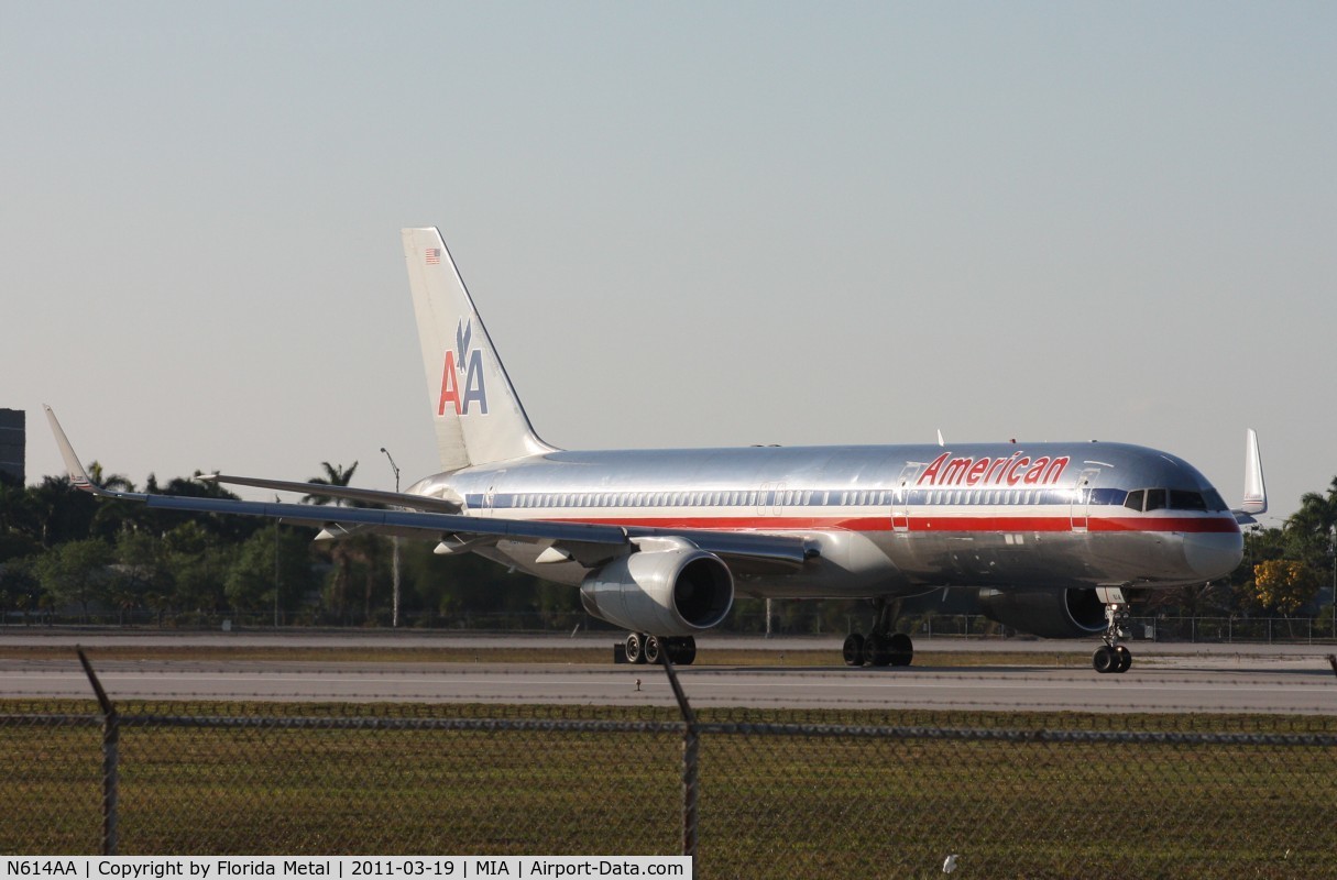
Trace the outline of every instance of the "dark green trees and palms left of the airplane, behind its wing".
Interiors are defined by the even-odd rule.
[[[357,469],[322,463],[322,485],[348,485]],[[90,465],[111,489],[237,499],[218,483],[150,476],[139,489]],[[318,514],[313,515],[318,518]],[[152,621],[203,625],[237,617],[305,626],[389,626],[393,546],[378,535],[316,540],[317,530],[253,516],[150,508],[98,499],[68,477],[21,485],[0,475],[0,621]],[[439,556],[431,542],[401,542],[401,621],[449,626],[504,615],[529,626],[582,615],[571,587],[479,556]]]

